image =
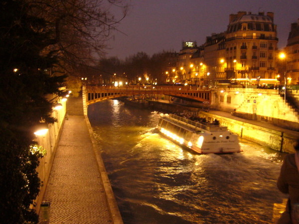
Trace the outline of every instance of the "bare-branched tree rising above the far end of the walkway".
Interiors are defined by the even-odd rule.
[[[105,41],[111,37],[116,25],[127,14],[123,0],[26,0],[32,7],[32,15],[44,18],[52,36],[44,53],[57,56],[56,71],[68,74],[71,83],[85,77],[89,67],[95,67],[105,55]],[[111,7],[121,12],[116,16]]]

